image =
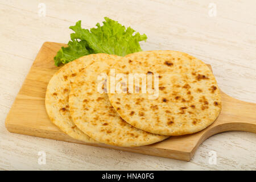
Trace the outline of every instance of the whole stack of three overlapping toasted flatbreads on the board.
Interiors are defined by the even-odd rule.
[[[122,75],[114,77],[122,83],[122,92],[110,92],[113,70]],[[152,92],[142,92],[142,79],[139,86],[130,86],[131,74],[151,76],[147,86],[151,82],[155,98]],[[134,147],[205,129],[220,114],[221,97],[207,65],[186,53],[97,53],[80,57],[53,75],[46,110],[72,138]]]

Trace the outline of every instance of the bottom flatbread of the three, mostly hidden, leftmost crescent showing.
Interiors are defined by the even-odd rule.
[[[71,83],[75,80],[79,72],[87,65],[95,61],[105,59],[119,59],[119,56],[98,53],[80,57],[59,69],[48,83],[46,91],[46,110],[51,121],[64,133],[77,140],[88,143],[96,142],[88,135],[82,133],[72,121],[69,113],[68,94]]]

